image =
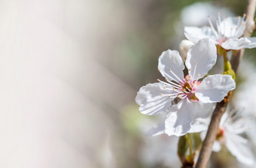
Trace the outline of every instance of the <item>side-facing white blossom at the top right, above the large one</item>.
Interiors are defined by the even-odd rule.
[[[208,17],[209,19],[209,17]],[[224,17],[218,13],[216,28],[209,19],[210,26],[202,28],[186,26],[184,35],[188,40],[197,43],[198,40],[209,37],[216,45],[224,49],[242,49],[256,47],[256,37],[241,37],[245,31],[245,15],[243,17]]]

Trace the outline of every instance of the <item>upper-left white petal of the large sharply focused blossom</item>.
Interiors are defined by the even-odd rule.
[[[172,72],[169,71],[170,68]],[[170,49],[164,51],[158,58],[158,70],[168,80],[175,80],[177,82],[179,81],[178,78],[183,80],[184,62],[178,51],[172,51]]]

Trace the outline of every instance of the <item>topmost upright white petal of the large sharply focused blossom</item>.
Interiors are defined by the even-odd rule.
[[[217,49],[214,43],[209,38],[203,38],[195,43],[188,52],[186,66],[190,69],[189,74],[193,80],[204,77],[207,72],[212,69],[217,60]],[[196,71],[194,72],[195,64],[197,63]],[[200,74],[200,77],[198,76]]]

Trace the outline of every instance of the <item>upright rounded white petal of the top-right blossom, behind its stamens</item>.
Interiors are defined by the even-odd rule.
[[[221,34],[225,37],[241,37],[243,31],[245,31],[245,21],[242,20],[242,24],[238,23],[238,17],[227,17],[220,24]],[[241,22],[241,20],[240,20]],[[237,30],[236,30],[237,29]]]

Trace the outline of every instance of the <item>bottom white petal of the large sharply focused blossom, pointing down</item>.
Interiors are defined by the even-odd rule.
[[[185,98],[171,107],[171,114],[166,118],[166,133],[171,136],[186,134],[194,120],[193,105]]]

